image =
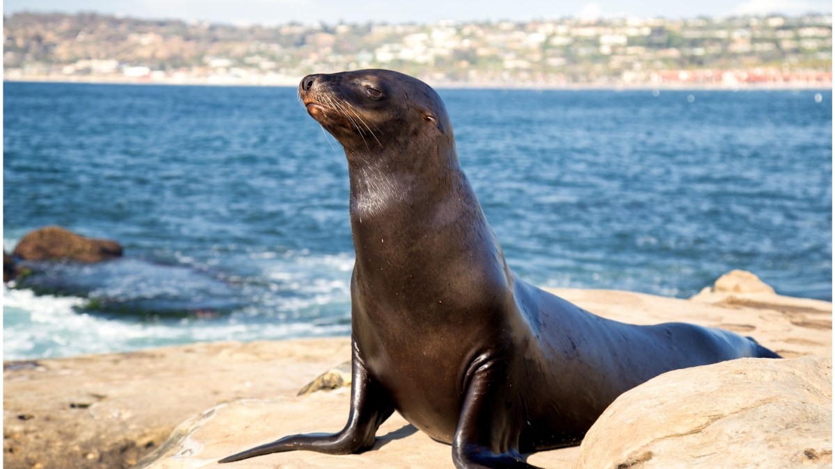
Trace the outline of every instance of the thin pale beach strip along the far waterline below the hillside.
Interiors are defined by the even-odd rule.
[[[18,75],[4,76],[3,82],[21,83],[87,83],[87,84],[139,84],[139,85],[189,85],[189,86],[256,86],[256,87],[296,87],[298,78],[131,78],[124,76],[62,76],[62,75]],[[536,82],[491,82],[491,81],[439,81],[425,79],[434,88],[449,89],[532,89],[532,90],[584,90],[584,89],[613,89],[613,90],[802,90],[802,89],[832,89],[832,81],[791,81],[767,83],[536,83]]]

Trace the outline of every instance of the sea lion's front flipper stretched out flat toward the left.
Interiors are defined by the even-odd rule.
[[[256,446],[218,462],[240,461],[282,451],[317,451],[327,454],[351,454],[374,445],[374,435],[383,421],[392,415],[394,406],[387,392],[372,381],[359,356],[356,344],[352,356],[351,413],[345,428],[333,435],[291,435]]]

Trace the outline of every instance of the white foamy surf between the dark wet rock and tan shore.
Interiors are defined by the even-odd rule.
[[[35,295],[31,290],[4,287],[4,356],[74,356],[205,340],[350,334],[353,255],[296,251],[256,254],[252,259],[261,264],[263,278],[271,280],[271,284],[253,291],[251,304],[231,315],[209,320],[104,317],[79,310],[87,303],[83,298]],[[132,286],[134,290],[143,290],[142,285]]]

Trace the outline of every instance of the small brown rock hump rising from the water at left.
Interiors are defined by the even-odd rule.
[[[68,229],[48,226],[23,236],[13,254],[24,260],[99,262],[121,257],[122,246],[116,241],[94,240]]]

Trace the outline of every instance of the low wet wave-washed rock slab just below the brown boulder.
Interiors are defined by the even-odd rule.
[[[88,298],[84,312],[144,317],[213,317],[244,305],[240,293],[207,272],[122,258],[97,264],[23,261],[33,271],[17,288]]]

